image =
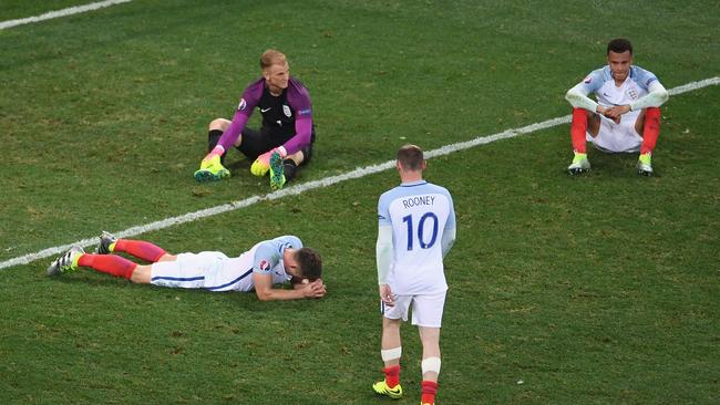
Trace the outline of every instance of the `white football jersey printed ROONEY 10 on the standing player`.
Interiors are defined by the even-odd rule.
[[[388,283],[397,294],[432,294],[448,290],[442,236],[455,227],[450,193],[425,180],[403,183],[378,201],[379,225],[391,225],[394,258]]]

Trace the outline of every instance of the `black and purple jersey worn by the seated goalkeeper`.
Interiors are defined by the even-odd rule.
[[[289,138],[282,145],[288,154],[300,150],[312,141],[312,106],[308,90],[295,77],[290,77],[282,94],[274,96],[261,77],[243,92],[233,122],[218,145],[225,150],[233,147],[256,107],[263,114],[263,135]]]

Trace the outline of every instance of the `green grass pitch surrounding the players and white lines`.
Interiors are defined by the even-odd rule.
[[[0,3],[0,21],[83,1]],[[309,89],[316,156],[297,184],[569,114],[563,98],[629,38],[666,87],[719,75],[712,1],[146,1],[0,30],[0,261],[268,194],[197,184],[206,126],[229,117],[267,48]],[[256,114],[259,115],[259,114]],[[664,106],[654,167],[568,125],[429,160],[457,241],[440,404],[720,402],[720,89]],[[257,122],[257,116],[254,117]],[[133,285],[51,258],[0,269],[2,404],[389,404],[374,269],[393,170],[140,235],[237,255],[298,235],[326,261],[319,301]],[[418,403],[420,342],[403,330]]]

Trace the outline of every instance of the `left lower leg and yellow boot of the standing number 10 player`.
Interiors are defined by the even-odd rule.
[[[382,340],[380,343],[382,362],[385,374],[383,381],[372,384],[372,390],[381,395],[387,395],[393,399],[402,396],[400,386],[400,357],[402,356],[402,346],[400,342],[400,319],[388,319],[382,316]]]

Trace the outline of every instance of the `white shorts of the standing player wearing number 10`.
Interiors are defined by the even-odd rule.
[[[395,295],[393,307],[380,301],[380,312],[387,319],[408,321],[408,312],[412,305],[412,324],[424,328],[441,328],[442,312],[445,307],[446,291],[433,295]]]

